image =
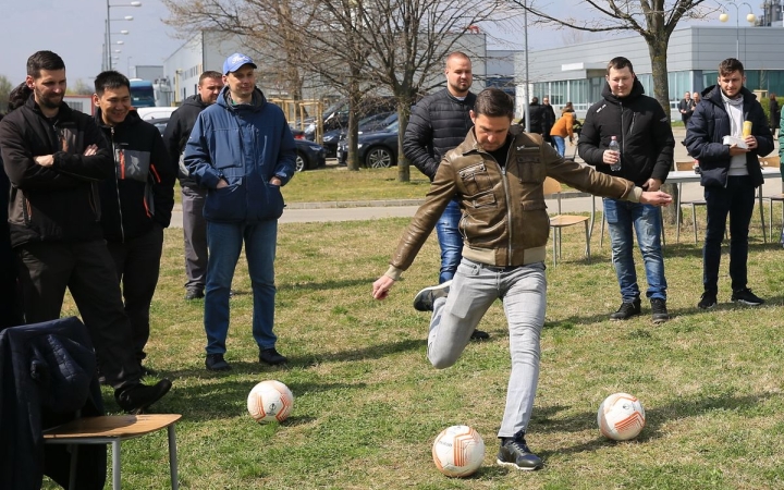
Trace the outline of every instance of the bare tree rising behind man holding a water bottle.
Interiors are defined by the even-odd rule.
[[[667,82],[667,45],[677,24],[686,19],[705,19],[716,7],[702,5],[706,0],[584,0],[598,15],[592,20],[559,19],[537,7],[536,0],[510,0],[513,4],[551,25],[590,33],[632,30],[646,40],[651,61],[653,96],[670,115]],[[541,2],[539,2],[541,4]]]

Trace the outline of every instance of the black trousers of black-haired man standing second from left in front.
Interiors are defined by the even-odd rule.
[[[142,236],[107,245],[122,284],[125,315],[133,332],[134,355],[142,362],[147,357],[144,347],[149,340],[149,308],[160,273],[163,228],[155,224]]]

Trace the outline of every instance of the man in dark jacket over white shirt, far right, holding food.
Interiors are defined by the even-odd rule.
[[[730,215],[730,278],[732,301],[747,306],[764,303],[748,289],[748,228],[755,205],[755,189],[762,185],[757,157],[773,151],[773,137],[762,106],[744,84],[743,63],[727,58],[719,64],[716,85],[702,90],[686,130],[686,148],[699,161],[700,184],[708,211],[702,247],[703,293],[698,307],[712,308],[719,293],[721,243]],[[744,125],[751,124],[744,136]],[[726,142],[734,136],[743,144]]]

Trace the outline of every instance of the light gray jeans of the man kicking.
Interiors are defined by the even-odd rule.
[[[428,359],[437,369],[457,362],[493,302],[503,302],[510,329],[512,372],[498,437],[525,432],[539,381],[539,339],[544,324],[544,264],[492,267],[463,258],[446,298],[436,299],[430,320]]]

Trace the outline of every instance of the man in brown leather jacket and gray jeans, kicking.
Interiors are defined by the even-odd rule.
[[[465,213],[463,259],[451,285],[443,283],[426,294],[432,310],[427,356],[437,369],[454,365],[488,308],[495,299],[503,302],[512,372],[495,461],[514,469],[532,470],[542,466],[541,458],[528,448],[526,433],[539,381],[547,306],[544,258],[550,224],[544,179],[551,176],[580,191],[657,206],[672,199],[564,160],[541,136],[524,133],[519,126],[512,128],[513,113],[512,97],[498,88],[477,96],[471,112],[474,130],[441,160],[425,204],[403,233],[389,269],[373,282],[372,296],[384,299],[389,295],[438,217],[457,196]],[[477,199],[493,205],[475,206]]]

